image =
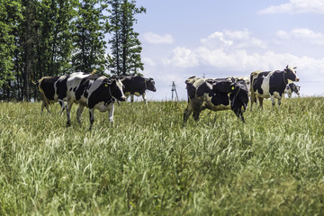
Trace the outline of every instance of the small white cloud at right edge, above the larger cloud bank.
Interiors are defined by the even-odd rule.
[[[294,29],[292,31],[277,31],[276,37],[282,40],[302,40],[316,45],[324,45],[324,34],[310,29]]]

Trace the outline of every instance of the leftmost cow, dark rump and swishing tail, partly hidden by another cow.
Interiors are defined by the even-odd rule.
[[[61,112],[64,111],[64,101],[67,99],[67,76],[44,76],[37,83],[32,80],[31,76],[31,83],[38,85],[42,98],[41,113],[44,107],[49,112],[49,104],[56,102],[62,107]]]

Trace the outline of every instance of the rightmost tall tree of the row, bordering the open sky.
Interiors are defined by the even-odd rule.
[[[111,0],[110,32],[112,38],[108,40],[111,44],[112,57],[109,57],[108,68],[114,75],[139,74],[143,70],[140,58],[139,33],[133,29],[137,22],[135,14],[146,13],[144,7],[136,7],[134,0]]]

